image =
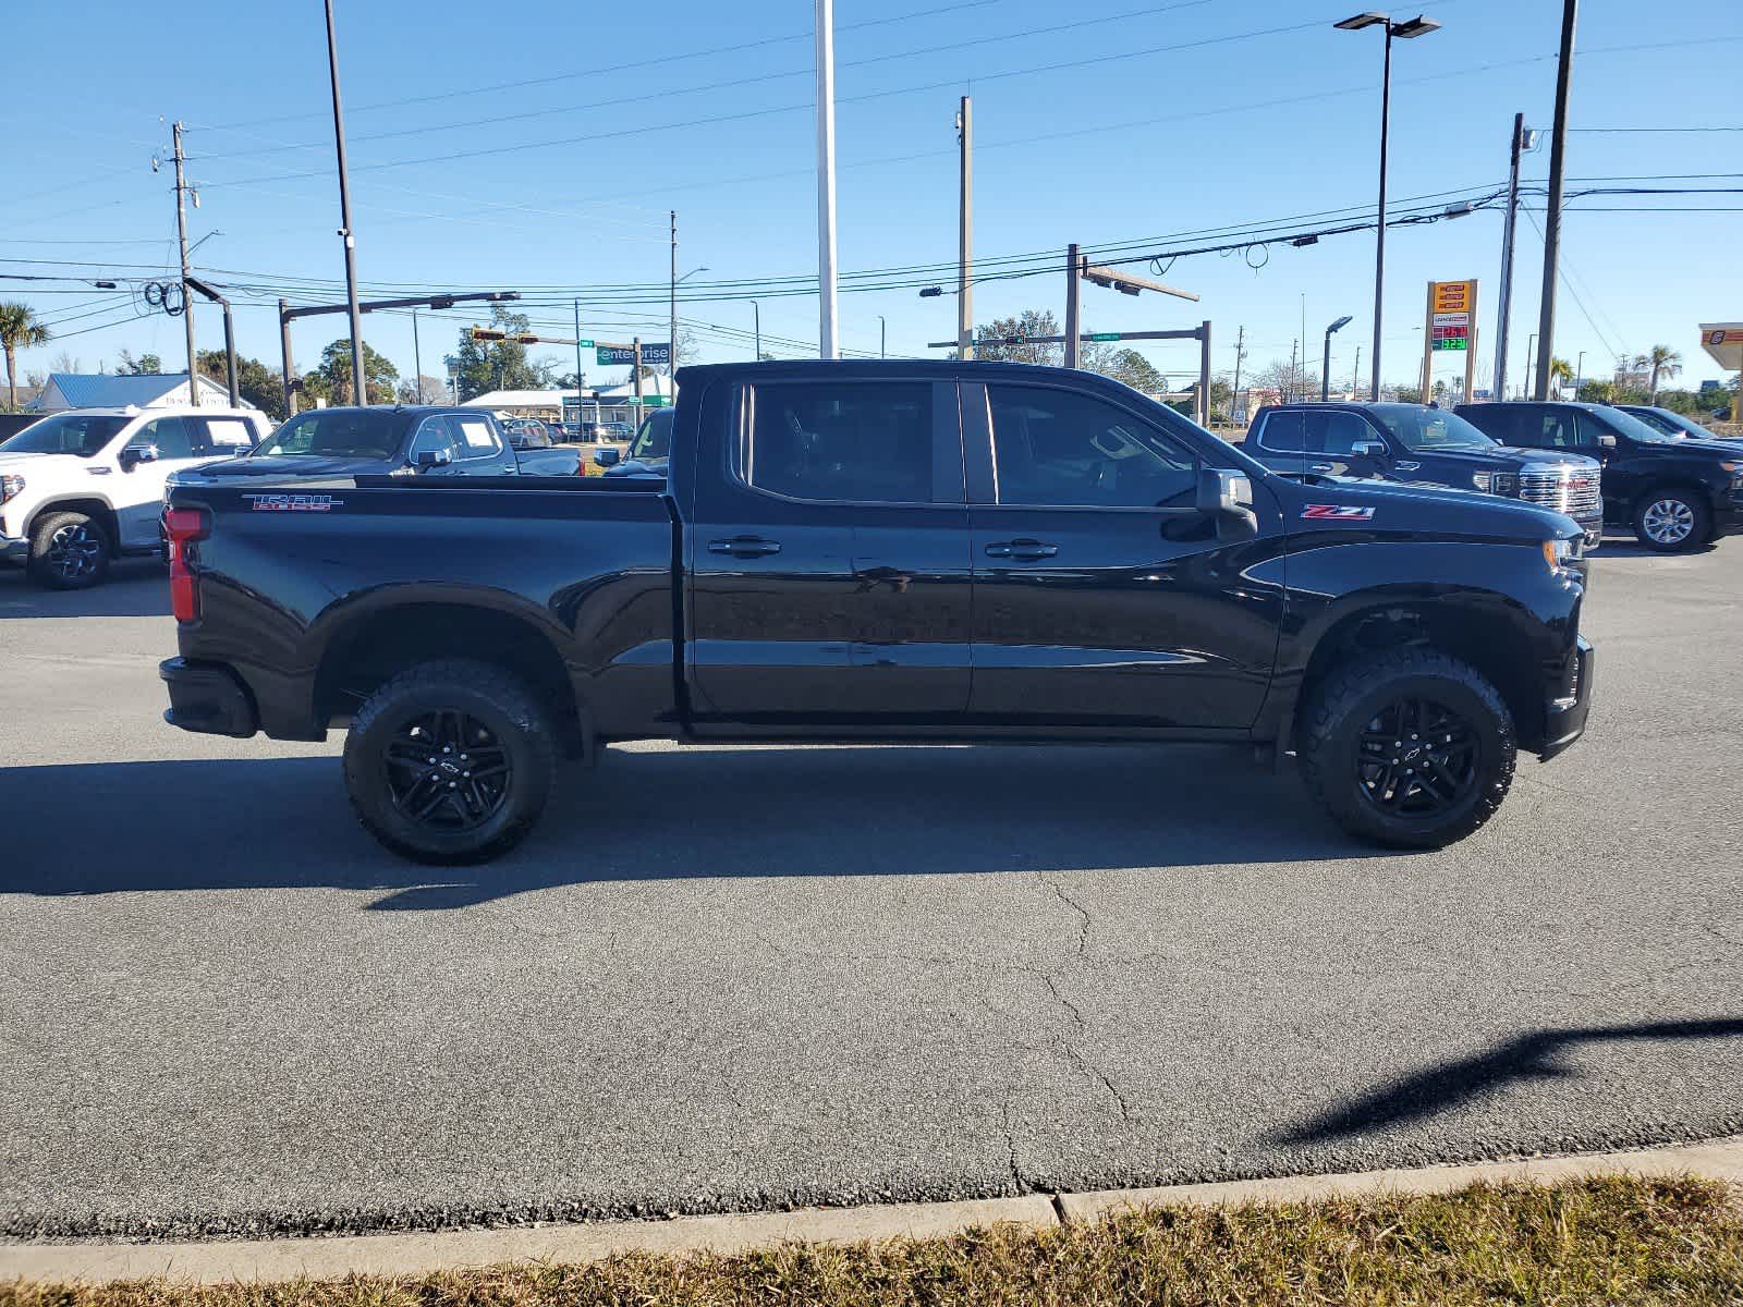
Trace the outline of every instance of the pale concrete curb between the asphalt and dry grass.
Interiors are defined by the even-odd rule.
[[[1743,1185],[1743,1136],[1666,1148],[1539,1157],[1408,1171],[1229,1180],[1095,1194],[1028,1194],[964,1202],[812,1208],[671,1222],[432,1230],[335,1239],[232,1239],[183,1244],[0,1244],[0,1283],[105,1283],[164,1277],[183,1284],[427,1276],[504,1262],[598,1262],[614,1253],[739,1253],[783,1243],[931,1239],[1000,1222],[1049,1229],[1135,1206],[1312,1202],[1370,1194],[1443,1194],[1476,1182],[1556,1182],[1595,1175],[1699,1175]]]

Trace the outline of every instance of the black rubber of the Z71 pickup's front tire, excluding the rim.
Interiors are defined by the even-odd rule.
[[[1407,817],[1382,810],[1363,784],[1361,735],[1400,699],[1421,695],[1457,713],[1476,741],[1468,793],[1445,812]],[[1356,655],[1314,687],[1297,725],[1302,779],[1351,835],[1393,849],[1441,849],[1489,821],[1513,784],[1513,714],[1489,680],[1426,645]]]

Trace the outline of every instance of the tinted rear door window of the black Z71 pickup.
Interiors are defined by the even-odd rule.
[[[758,385],[749,404],[749,484],[807,500],[931,502],[931,385]]]

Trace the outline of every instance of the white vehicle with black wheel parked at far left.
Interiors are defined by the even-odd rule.
[[[272,423],[235,408],[75,408],[0,443],[0,559],[71,591],[160,547],[171,472],[248,453]]]

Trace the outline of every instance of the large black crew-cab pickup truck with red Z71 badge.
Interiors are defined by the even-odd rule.
[[[687,368],[668,476],[185,476],[167,720],[319,741],[389,849],[500,854],[560,755],[1218,741],[1459,840],[1584,730],[1572,519],[1288,479],[1100,376]],[[1159,833],[1166,838],[1166,833]]]

